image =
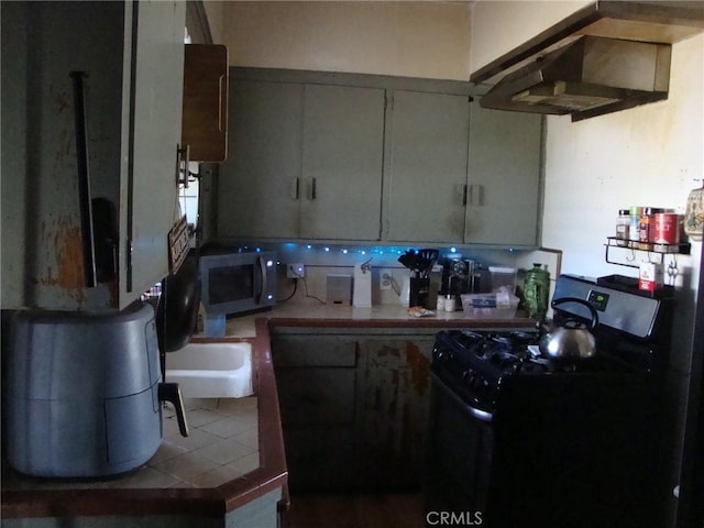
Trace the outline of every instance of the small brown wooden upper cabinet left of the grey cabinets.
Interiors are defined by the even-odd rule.
[[[187,44],[184,56],[182,144],[189,158],[222,162],[228,157],[228,48]]]

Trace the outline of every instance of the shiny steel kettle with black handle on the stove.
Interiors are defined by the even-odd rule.
[[[568,319],[564,323],[550,331],[540,339],[540,352],[551,360],[586,360],[596,354],[596,342],[592,330],[598,324],[598,315],[594,307],[584,299],[563,297],[553,300],[552,308],[565,302],[578,302],[586,306],[592,315],[592,321],[586,326],[575,319]]]

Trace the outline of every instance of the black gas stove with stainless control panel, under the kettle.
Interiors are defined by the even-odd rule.
[[[596,354],[554,361],[544,331],[438,333],[432,351],[428,521],[487,528],[658,527],[671,299],[562,275],[553,301],[587,300]],[[588,322],[563,302],[554,322]],[[444,516],[444,517],[443,517]]]

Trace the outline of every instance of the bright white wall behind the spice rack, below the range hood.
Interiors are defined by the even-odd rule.
[[[565,272],[629,273],[606,264],[601,251],[619,208],[684,212],[704,176],[703,50],[701,35],[674,45],[666,101],[576,123],[548,118],[543,243],[564,250]],[[700,249],[694,243],[692,252]],[[696,278],[697,257],[678,266]]]

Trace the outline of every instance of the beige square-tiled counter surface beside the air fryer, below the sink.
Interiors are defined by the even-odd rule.
[[[22,477],[4,468],[3,490],[216,487],[260,466],[257,399],[187,399],[189,436],[182,437],[174,408],[162,411],[164,436],[138,471],[109,481],[62,482]]]

